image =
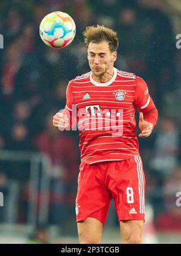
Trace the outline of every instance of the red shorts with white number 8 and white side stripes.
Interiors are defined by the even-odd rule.
[[[76,220],[97,218],[104,225],[110,201],[118,220],[144,220],[145,177],[139,155],[122,161],[80,164],[76,197]]]

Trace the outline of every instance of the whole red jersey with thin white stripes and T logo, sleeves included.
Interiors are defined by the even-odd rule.
[[[81,161],[94,164],[138,155],[135,107],[155,126],[157,110],[147,84],[133,73],[114,67],[107,83],[94,81],[92,72],[69,81],[65,109],[71,116],[77,111]]]

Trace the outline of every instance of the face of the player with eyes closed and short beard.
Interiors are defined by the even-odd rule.
[[[87,49],[89,66],[95,76],[103,76],[110,67],[113,67],[116,56],[116,52],[110,52],[109,44],[106,41],[99,44],[90,42]]]

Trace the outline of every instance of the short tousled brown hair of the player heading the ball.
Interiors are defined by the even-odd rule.
[[[104,25],[92,25],[86,27],[86,30],[83,32],[84,42],[88,48],[90,42],[98,44],[100,42],[106,41],[109,44],[110,52],[115,52],[118,49],[118,36],[115,31],[104,27]]]

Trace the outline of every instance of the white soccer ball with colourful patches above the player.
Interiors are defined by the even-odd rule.
[[[40,23],[40,38],[52,48],[63,48],[71,44],[75,33],[75,22],[68,13],[49,13]]]

